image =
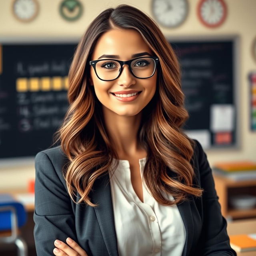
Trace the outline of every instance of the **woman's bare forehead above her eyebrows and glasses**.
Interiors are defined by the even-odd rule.
[[[112,29],[100,36],[94,48],[92,59],[96,60],[103,54],[114,54],[119,55],[120,59],[129,59],[132,54],[139,52],[153,53],[138,31]]]

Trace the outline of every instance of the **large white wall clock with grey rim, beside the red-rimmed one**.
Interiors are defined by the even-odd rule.
[[[168,28],[178,27],[188,15],[187,0],[153,0],[152,12],[156,21]]]

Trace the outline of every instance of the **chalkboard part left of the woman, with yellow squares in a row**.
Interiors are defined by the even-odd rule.
[[[68,108],[68,70],[77,43],[0,42],[0,158],[50,147]]]

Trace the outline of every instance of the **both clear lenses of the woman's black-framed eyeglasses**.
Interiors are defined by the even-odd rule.
[[[156,64],[154,59],[143,57],[131,62],[131,69],[134,76],[147,78],[154,73]],[[112,80],[118,77],[121,66],[114,60],[102,60],[96,63],[96,73],[103,80]]]

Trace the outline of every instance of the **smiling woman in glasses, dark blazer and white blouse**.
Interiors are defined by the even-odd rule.
[[[35,160],[37,255],[236,255],[206,154],[182,131],[178,60],[154,21],[105,10],[68,76],[60,146]]]

